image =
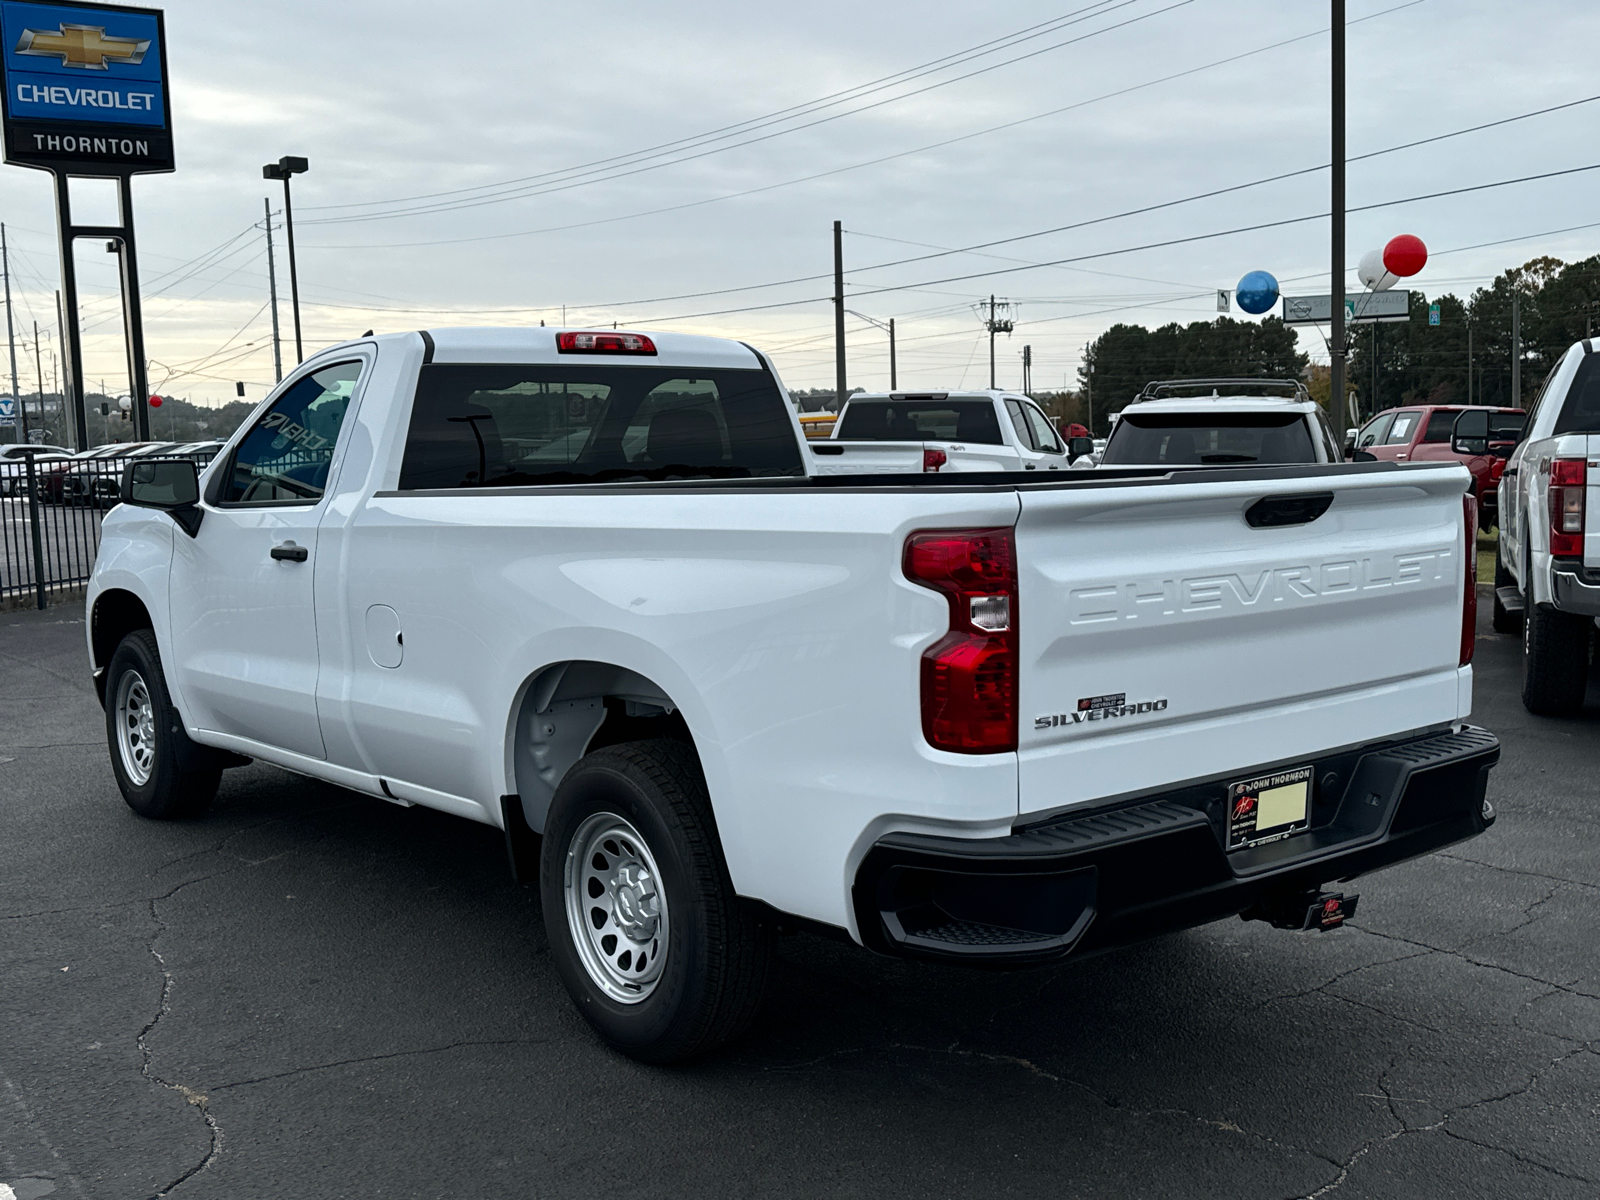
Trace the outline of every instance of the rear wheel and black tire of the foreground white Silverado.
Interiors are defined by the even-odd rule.
[[[619,827],[637,830],[643,846],[626,832],[606,838]],[[584,846],[595,850],[587,854]],[[638,870],[621,874],[630,869]],[[602,874],[610,882],[602,883]],[[646,880],[643,902],[637,891],[627,899],[619,878]],[[699,758],[683,742],[608,746],[566,773],[546,819],[539,899],[562,982],[595,1032],[629,1058],[683,1062],[736,1037],[760,1008],[771,931],[733,891]],[[606,949],[602,931],[622,931],[624,917],[648,912],[651,899],[664,917],[653,925],[635,922]],[[597,915],[600,923],[590,931]],[[651,930],[664,931],[664,946]],[[626,941],[635,934],[637,941]],[[630,960],[629,947],[638,958]],[[619,976],[630,965],[643,971],[646,962],[654,973],[650,982]],[[629,987],[640,998],[619,998]]]

